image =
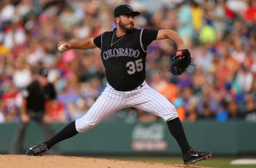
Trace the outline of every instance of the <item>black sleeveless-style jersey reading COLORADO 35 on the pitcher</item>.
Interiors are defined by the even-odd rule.
[[[116,29],[94,38],[101,49],[107,81],[119,91],[137,88],[146,79],[147,46],[156,39],[157,30],[133,29],[117,38]]]

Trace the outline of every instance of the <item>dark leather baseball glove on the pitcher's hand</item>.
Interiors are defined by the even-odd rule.
[[[171,66],[169,71],[174,75],[183,73],[189,65],[192,65],[192,58],[188,49],[179,49],[171,58]]]

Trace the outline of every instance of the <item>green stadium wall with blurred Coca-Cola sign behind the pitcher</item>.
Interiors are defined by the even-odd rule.
[[[54,124],[56,131],[66,124]],[[197,121],[183,122],[191,146],[211,150],[216,155],[255,155],[256,123],[244,121]],[[17,124],[0,124],[0,153],[10,149]],[[43,141],[38,125],[28,126],[24,149]],[[166,123],[102,122],[85,133],[59,143],[62,154],[181,154],[175,139],[170,135]]]

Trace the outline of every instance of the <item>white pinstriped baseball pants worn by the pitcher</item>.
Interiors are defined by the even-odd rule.
[[[131,91],[117,91],[109,84],[89,111],[76,120],[76,130],[92,129],[110,114],[126,107],[135,107],[169,121],[178,117],[175,107],[167,98],[151,88],[146,81]]]

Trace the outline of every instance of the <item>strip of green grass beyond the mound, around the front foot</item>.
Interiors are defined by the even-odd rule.
[[[161,163],[173,163],[173,164],[183,164],[180,157],[118,157],[118,156],[108,156],[104,158],[113,158],[126,161],[146,161],[146,162],[161,162]],[[230,165],[230,161],[238,158],[226,158],[226,157],[211,157],[204,161],[196,162],[192,164],[193,166],[208,166],[208,167],[218,167],[218,168],[255,168],[256,165]]]

